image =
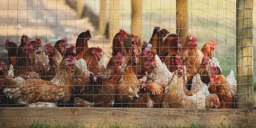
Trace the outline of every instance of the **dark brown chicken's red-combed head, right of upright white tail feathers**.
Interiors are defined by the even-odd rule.
[[[167,66],[170,72],[174,72],[178,69],[181,57],[179,54],[173,54],[172,56],[167,56],[164,60],[164,64]]]

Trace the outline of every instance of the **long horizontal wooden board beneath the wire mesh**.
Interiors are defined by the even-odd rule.
[[[48,123],[100,125],[140,124],[142,126],[188,126],[189,123],[216,126],[256,127],[256,110],[165,109],[165,108],[0,108],[0,127]]]

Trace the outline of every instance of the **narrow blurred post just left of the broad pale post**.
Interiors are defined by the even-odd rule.
[[[99,20],[99,32],[105,34],[107,28],[108,19],[108,1],[100,0],[100,20]]]

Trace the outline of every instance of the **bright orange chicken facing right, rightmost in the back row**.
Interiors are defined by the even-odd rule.
[[[212,59],[212,51],[217,47],[217,43],[214,39],[211,40],[211,42],[207,42],[202,47],[201,51],[203,52],[204,56],[207,54],[207,56]]]

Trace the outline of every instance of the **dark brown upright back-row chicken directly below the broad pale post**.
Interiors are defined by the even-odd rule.
[[[118,52],[122,53],[123,56],[126,56],[126,49],[124,46],[125,38],[127,38],[127,36],[123,29],[121,29],[119,33],[116,33],[113,39],[112,56],[116,56]]]

